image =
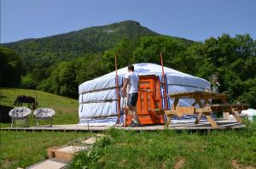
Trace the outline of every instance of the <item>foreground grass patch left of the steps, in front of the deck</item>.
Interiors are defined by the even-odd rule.
[[[47,149],[78,144],[89,132],[0,132],[0,168],[31,166],[47,157]]]

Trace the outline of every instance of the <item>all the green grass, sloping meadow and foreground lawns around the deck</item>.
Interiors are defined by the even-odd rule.
[[[12,105],[33,90],[0,88],[0,104]],[[56,111],[55,124],[78,122],[78,100],[37,91],[39,107]],[[5,127],[9,124],[1,124]],[[256,124],[247,128],[201,132],[129,132],[111,129],[70,168],[256,168]],[[46,158],[51,146],[76,143],[84,132],[0,132],[0,168],[30,166]]]

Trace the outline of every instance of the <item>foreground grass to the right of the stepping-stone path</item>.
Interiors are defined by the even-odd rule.
[[[70,168],[256,167],[256,124],[232,132],[205,133],[110,130],[109,138],[76,156]],[[182,162],[181,162],[182,161]],[[234,164],[233,164],[234,165]]]

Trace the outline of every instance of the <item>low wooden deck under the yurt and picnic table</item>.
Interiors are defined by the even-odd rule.
[[[246,127],[244,124],[238,123],[236,121],[221,120],[216,121],[218,123],[218,128],[213,128],[209,122],[201,122],[199,124],[195,123],[178,123],[170,124],[167,130],[224,130],[224,129],[238,129]],[[102,126],[102,127],[91,127],[91,126],[80,126],[77,124],[71,125],[54,125],[53,127],[6,127],[1,128],[1,131],[27,131],[27,132],[102,132],[110,129],[112,127]],[[145,127],[113,127],[123,130],[131,131],[156,131],[156,130],[166,130],[164,125],[154,125],[154,126],[145,126]]]

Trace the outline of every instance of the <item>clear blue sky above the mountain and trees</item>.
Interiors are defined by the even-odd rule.
[[[255,13],[255,0],[1,0],[1,42],[122,20],[195,41],[223,33],[249,33],[256,40]]]

